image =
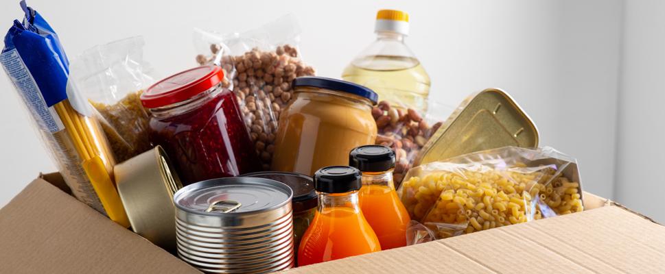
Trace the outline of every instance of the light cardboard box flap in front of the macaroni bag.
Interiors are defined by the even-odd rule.
[[[614,206],[287,273],[660,273],[665,227]]]

